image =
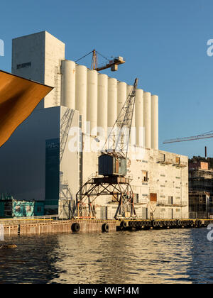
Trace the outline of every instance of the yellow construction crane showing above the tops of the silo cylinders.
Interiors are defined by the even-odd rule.
[[[84,55],[83,57],[76,60],[75,62],[82,60],[84,57],[87,57],[91,53],[92,53],[91,70],[97,70],[99,72],[100,70],[106,70],[107,68],[111,68],[111,72],[116,72],[116,70],[118,70],[119,68],[119,65],[125,63],[124,58],[121,56],[112,57],[112,59],[109,60],[107,57],[104,57],[102,54],[98,53],[97,50],[92,50],[92,52],[89,52],[87,55]],[[99,67],[98,67],[98,56],[97,56],[98,54],[107,60],[106,64],[100,65]]]

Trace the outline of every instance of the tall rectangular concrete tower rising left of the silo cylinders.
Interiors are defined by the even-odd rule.
[[[47,31],[13,39],[12,73],[55,87],[37,109],[60,105],[60,64],[65,44]]]

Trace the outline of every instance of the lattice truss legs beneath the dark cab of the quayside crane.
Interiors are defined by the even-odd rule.
[[[95,218],[94,202],[97,197],[105,195],[114,197],[118,202],[115,219],[136,218],[130,182],[131,177],[90,177],[76,194],[76,216]]]

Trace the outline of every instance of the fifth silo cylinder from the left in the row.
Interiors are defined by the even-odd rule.
[[[114,126],[117,118],[117,80],[109,77],[108,79],[108,128]]]

